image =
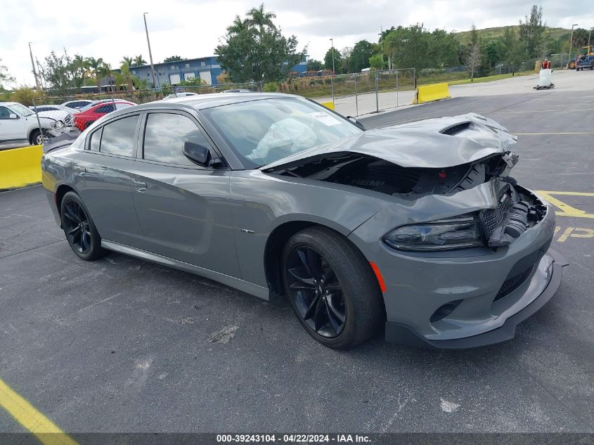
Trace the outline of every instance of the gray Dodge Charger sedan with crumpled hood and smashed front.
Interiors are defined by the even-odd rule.
[[[516,137],[468,114],[365,130],[304,98],[229,93],[116,111],[46,147],[78,257],[114,250],[263,299],[354,347],[508,340],[560,285],[553,208],[510,176]]]

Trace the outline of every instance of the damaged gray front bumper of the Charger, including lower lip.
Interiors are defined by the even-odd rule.
[[[503,209],[502,191],[512,199]],[[524,204],[516,206],[518,202]],[[396,207],[351,233],[385,280],[386,340],[441,348],[501,342],[512,338],[515,325],[555,294],[566,262],[549,250],[553,207],[534,193],[490,181],[451,196],[421,198],[413,207],[416,214],[424,210],[440,218],[454,211],[483,214],[498,207],[502,214],[486,228],[485,247],[470,249],[403,252],[378,243],[377,234],[402,217]],[[519,216],[512,211],[517,207]]]

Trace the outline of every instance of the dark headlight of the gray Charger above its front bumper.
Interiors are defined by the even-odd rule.
[[[412,252],[484,246],[476,214],[401,226],[387,233],[383,240],[389,247]]]

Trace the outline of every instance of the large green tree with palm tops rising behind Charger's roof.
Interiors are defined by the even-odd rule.
[[[284,37],[273,18],[262,4],[227,27],[224,43],[214,53],[231,82],[283,81],[304,56],[306,49],[297,51],[297,37]]]

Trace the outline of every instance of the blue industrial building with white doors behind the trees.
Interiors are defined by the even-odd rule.
[[[306,56],[297,65],[293,66],[291,72],[296,72],[299,77],[306,72]],[[215,56],[176,60],[175,62],[155,63],[155,77],[157,86],[167,82],[171,85],[179,84],[183,80],[200,77],[208,85],[217,85],[217,76],[221,74],[221,65]],[[132,75],[139,79],[146,79],[148,84],[153,84],[153,75],[150,72],[150,65],[130,67]]]

